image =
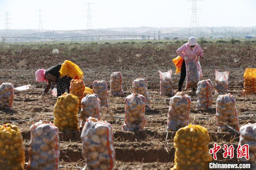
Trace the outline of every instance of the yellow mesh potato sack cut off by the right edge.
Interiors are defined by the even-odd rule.
[[[244,94],[256,94],[256,69],[244,71]]]

